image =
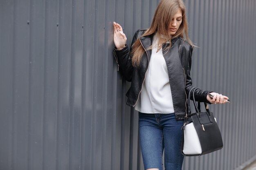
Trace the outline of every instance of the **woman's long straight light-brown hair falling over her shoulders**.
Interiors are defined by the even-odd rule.
[[[170,24],[171,20],[173,19],[173,16],[177,11],[181,9],[182,11],[182,23],[180,24],[179,29],[176,31],[174,35],[169,35],[168,33],[168,25]],[[156,34],[156,41],[154,44],[152,44],[148,49],[144,49],[143,46],[140,43],[139,38],[135,41],[135,43],[132,45],[132,65],[135,67],[139,66],[141,56],[145,52],[145,50],[153,49],[158,44],[162,44],[164,42],[168,42],[171,40],[171,38],[176,38],[180,36],[181,38],[184,38],[184,34],[186,35],[186,40],[189,44],[192,46],[193,43],[191,40],[189,40],[188,36],[188,22],[186,20],[186,11],[185,11],[185,5],[182,0],[161,0],[157,6],[157,9],[154,14],[154,18],[152,20],[151,26],[147,31],[142,35],[148,36],[151,34]],[[161,35],[164,35],[166,38],[162,38]],[[171,48],[171,46],[167,47],[168,49]]]

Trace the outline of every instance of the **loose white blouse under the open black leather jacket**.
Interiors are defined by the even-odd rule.
[[[135,110],[141,113],[174,113],[171,86],[162,49],[158,52],[157,48],[152,49]]]

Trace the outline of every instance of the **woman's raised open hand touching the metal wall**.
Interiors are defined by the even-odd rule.
[[[123,33],[123,29],[121,25],[117,24],[116,22],[113,22],[114,25],[114,43],[117,47],[117,50],[124,49],[126,44],[126,35]]]

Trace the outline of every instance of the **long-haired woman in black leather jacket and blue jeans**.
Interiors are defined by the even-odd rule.
[[[136,31],[130,52],[126,40],[122,27],[114,22],[114,55],[118,69],[131,82],[127,105],[139,111],[144,168],[162,170],[164,150],[165,170],[181,170],[181,127],[187,114],[187,94],[193,87],[194,47],[188,37],[184,2],[161,0],[150,28]],[[197,89],[195,99],[225,104],[228,97]]]

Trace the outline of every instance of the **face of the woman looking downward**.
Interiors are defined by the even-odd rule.
[[[168,25],[168,32],[170,35],[174,35],[182,23],[182,11],[179,9],[173,16],[173,20]]]

